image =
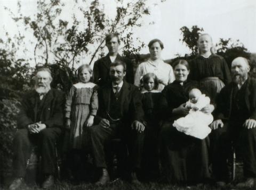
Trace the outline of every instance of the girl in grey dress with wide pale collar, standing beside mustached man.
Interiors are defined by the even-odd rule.
[[[77,69],[79,82],[73,84],[66,100],[66,127],[70,128],[70,149],[82,149],[86,144],[84,127],[93,125],[98,110],[97,85],[92,83],[90,65]]]

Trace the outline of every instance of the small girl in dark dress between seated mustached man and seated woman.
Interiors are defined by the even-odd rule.
[[[154,73],[142,77],[142,106],[145,113],[146,136],[143,165],[147,179],[156,179],[159,174],[158,134],[159,134],[159,98],[158,79]]]

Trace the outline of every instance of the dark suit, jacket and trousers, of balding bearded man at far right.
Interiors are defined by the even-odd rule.
[[[246,106],[236,116],[231,116],[236,85],[234,82],[226,85],[217,98],[217,117],[215,119],[222,119],[222,122],[226,123],[222,128],[213,130],[211,133],[211,144],[214,147],[213,173],[214,176],[219,176],[218,180],[227,179],[228,176],[228,155],[226,154],[230,149],[228,146],[230,140],[233,140],[236,150],[242,153],[244,176],[256,177],[256,128],[247,129],[242,126],[245,119],[256,119],[256,80],[249,77],[244,83],[245,89],[242,97]]]

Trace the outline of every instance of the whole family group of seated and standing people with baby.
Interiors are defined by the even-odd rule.
[[[244,161],[245,180],[237,186],[254,186],[256,81],[248,75],[247,59],[235,58],[230,75],[225,59],[212,51],[211,36],[201,34],[199,55],[171,66],[161,58],[163,42],[153,39],[150,58],[134,75],[132,62],[118,54],[119,44],[118,34],[106,36],[108,55],[93,70],[89,65],[78,68],[79,82],[67,97],[51,89],[48,68],[37,71],[35,89],[22,99],[17,117],[10,189],[24,182],[33,144],[42,156],[42,187],[54,184],[55,142],[63,128],[69,130],[63,144],[70,156],[81,150],[92,156],[98,185],[110,180],[107,145],[118,138],[127,148],[123,169],[132,183],[140,183],[137,176],[145,163],[148,175],[159,174],[160,160],[168,182],[196,184],[213,178],[224,186],[233,142],[235,149],[241,147]]]

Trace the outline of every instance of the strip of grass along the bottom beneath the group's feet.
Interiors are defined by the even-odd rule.
[[[243,174],[242,174],[242,167],[239,166],[237,167],[236,170],[236,179],[233,183],[228,184],[225,187],[217,187],[214,184],[199,184],[199,185],[191,185],[191,186],[186,186],[186,185],[173,185],[173,184],[166,184],[166,183],[160,183],[160,182],[148,182],[148,183],[141,183],[140,185],[133,185],[129,182],[127,182],[126,180],[121,180],[121,179],[116,179],[114,181],[111,181],[110,183],[108,183],[105,186],[96,186],[92,183],[86,183],[86,182],[81,182],[78,184],[73,184],[70,182],[67,182],[65,180],[61,180],[61,181],[57,181],[55,183],[55,185],[51,188],[52,190],[66,190],[66,189],[75,189],[75,190],[79,190],[79,189],[86,189],[86,190],[100,190],[100,189],[104,189],[104,190],[223,190],[223,189],[227,189],[227,190],[235,190],[238,189],[235,187],[235,184],[240,182]],[[84,174],[84,172],[83,172]],[[33,175],[35,176],[35,175]],[[81,176],[83,176],[81,174]],[[78,176],[78,177],[81,177]],[[87,176],[88,177],[88,176]],[[8,185],[11,183],[11,173],[9,172],[9,174],[5,174],[4,175],[4,179],[2,178],[2,180],[0,181],[0,189],[4,190],[4,189],[8,189]],[[30,182],[28,185],[24,184],[22,185],[19,189],[21,190],[37,190],[37,189],[41,189],[39,185],[35,184],[35,178],[31,179],[29,178]],[[28,180],[28,181],[29,181]],[[4,185],[3,185],[4,184]]]

